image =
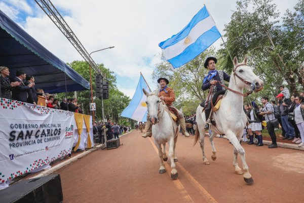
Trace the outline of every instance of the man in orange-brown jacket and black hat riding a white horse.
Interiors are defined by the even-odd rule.
[[[165,102],[167,107],[173,107],[172,103],[175,101],[175,94],[174,94],[174,90],[172,88],[168,87],[169,80],[166,78],[159,78],[157,80],[157,82],[161,86],[161,89],[160,89],[160,92],[158,95],[159,98]],[[180,123],[181,132],[184,134],[185,137],[189,137],[189,133],[186,131],[186,123],[185,123],[183,114],[180,111],[178,111],[177,109],[175,109],[175,110],[178,112],[178,120]],[[149,115],[147,116],[147,122],[146,122],[146,127],[145,127],[146,133],[142,135],[143,138],[152,136],[152,125],[148,118],[149,118]]]

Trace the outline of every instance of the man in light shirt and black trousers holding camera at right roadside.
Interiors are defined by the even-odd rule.
[[[269,145],[268,148],[278,148],[275,127],[277,126],[279,121],[275,117],[274,107],[272,106],[272,104],[268,102],[268,100],[269,100],[268,96],[262,97],[261,101],[262,104],[264,105],[264,108],[262,109],[262,112],[259,113],[259,115],[265,117],[265,120],[267,122],[267,130],[272,140],[272,144]]]

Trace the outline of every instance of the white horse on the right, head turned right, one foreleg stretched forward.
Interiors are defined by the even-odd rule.
[[[260,91],[263,88],[263,82],[253,73],[252,67],[247,65],[247,57],[245,57],[242,63],[238,63],[238,59],[235,57],[233,60],[234,70],[230,77],[229,87],[231,90],[227,90],[226,95],[223,96],[219,110],[217,110],[213,116],[216,122],[216,126],[211,126],[212,133],[209,135],[209,140],[212,148],[212,160],[216,159],[216,150],[213,143],[213,138],[216,134],[225,134],[229,141],[234,146],[234,160],[236,174],[243,174],[243,171],[238,166],[238,153],[241,156],[244,170],[244,180],[248,184],[253,183],[249,168],[245,159],[244,148],[240,144],[241,137],[243,135],[243,129],[246,126],[247,118],[243,111],[243,89],[253,88],[255,92]],[[236,93],[239,92],[240,94]],[[195,143],[197,143],[200,137],[200,144],[203,153],[204,164],[210,164],[205,156],[204,152],[204,138],[205,138],[205,112],[202,112],[203,108],[198,106],[197,108],[197,129]]]

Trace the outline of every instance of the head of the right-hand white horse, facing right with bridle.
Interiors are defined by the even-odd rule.
[[[234,78],[231,77],[230,80],[235,80],[237,86],[252,89],[254,92],[263,89],[264,83],[253,73],[252,67],[247,64],[247,56],[242,63],[239,63],[237,57],[234,57],[233,64],[234,70],[232,76],[234,76]]]

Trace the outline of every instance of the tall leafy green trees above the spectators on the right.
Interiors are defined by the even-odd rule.
[[[303,10],[302,2],[301,0],[297,4],[298,11]],[[299,27],[294,25],[287,29],[290,21],[299,22],[303,19],[302,12],[295,13],[287,11],[283,19],[286,23],[282,25],[278,19],[279,12],[276,5],[272,4],[272,0],[241,0],[237,2],[237,10],[233,13],[231,21],[225,25],[227,48],[233,56],[249,56],[251,66],[256,67],[257,75],[267,82],[267,91],[272,95],[277,94],[279,86],[284,82],[288,84],[291,92],[297,92],[299,88],[296,79],[301,88],[304,85],[301,80],[303,58],[297,57],[297,62],[291,60],[294,52],[303,50],[303,44],[296,42],[303,40],[303,29],[300,29],[302,22]],[[292,33],[294,29],[297,30],[296,35]],[[298,37],[300,39],[297,39]],[[225,58],[224,64],[232,66],[226,51],[222,49],[219,53]],[[298,74],[294,76],[293,72]]]

